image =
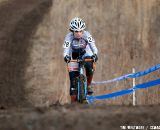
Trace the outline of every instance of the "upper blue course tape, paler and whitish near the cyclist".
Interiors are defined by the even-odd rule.
[[[123,75],[123,76],[120,76],[118,78],[114,78],[114,79],[111,79],[111,80],[93,82],[92,85],[111,83],[111,82],[116,82],[116,81],[120,81],[120,80],[125,80],[125,79],[128,79],[128,78],[138,78],[138,77],[144,76],[146,74],[149,74],[151,72],[154,72],[154,71],[156,71],[158,69],[160,69],[160,64],[152,66],[152,67],[150,67],[150,68],[148,68],[148,69],[146,69],[144,71],[139,71],[139,72],[136,72],[136,73],[126,74],[126,75]]]

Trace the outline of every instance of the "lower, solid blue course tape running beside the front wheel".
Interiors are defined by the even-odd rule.
[[[99,96],[87,96],[87,101],[88,101],[88,103],[93,103],[96,100],[105,100],[105,99],[109,99],[109,98],[113,98],[113,97],[118,97],[118,96],[130,94],[138,89],[149,88],[149,87],[153,87],[153,86],[156,86],[159,84],[160,84],[160,79],[152,80],[149,82],[138,84],[138,85],[134,86],[133,88],[124,89],[124,90],[117,91],[117,92],[110,93],[110,94],[99,95]]]

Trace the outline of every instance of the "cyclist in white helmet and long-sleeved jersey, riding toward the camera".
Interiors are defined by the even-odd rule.
[[[69,63],[71,59],[77,59],[79,56],[82,56],[84,59],[92,58],[93,62],[97,62],[98,50],[95,45],[95,40],[92,38],[88,31],[85,31],[85,28],[86,24],[81,18],[75,17],[70,21],[70,32],[66,35],[64,40],[63,56],[66,63]],[[93,93],[90,86],[94,73],[93,62],[86,62],[84,65],[86,70],[87,90],[89,95]],[[76,89],[73,79],[78,76],[78,74],[78,71],[69,72],[71,102],[76,101]]]

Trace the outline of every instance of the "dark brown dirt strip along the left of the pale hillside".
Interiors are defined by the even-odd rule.
[[[0,4],[0,102],[1,105],[29,105],[25,102],[25,68],[30,38],[52,5],[52,0],[10,0]]]

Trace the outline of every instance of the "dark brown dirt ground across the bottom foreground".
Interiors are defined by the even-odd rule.
[[[121,126],[149,130],[160,125],[159,112],[160,106],[78,104],[4,109],[0,110],[0,130],[121,130]]]

